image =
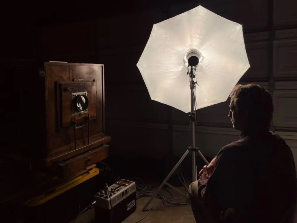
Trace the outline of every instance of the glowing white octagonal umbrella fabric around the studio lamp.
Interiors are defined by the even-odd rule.
[[[242,25],[198,6],[153,25],[137,63],[152,100],[191,111],[187,64],[190,49],[200,53],[196,70],[197,109],[228,99],[250,67]]]

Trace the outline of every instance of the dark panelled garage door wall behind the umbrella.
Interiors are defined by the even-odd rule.
[[[42,66],[44,61],[99,63],[105,65],[105,123],[106,133],[112,137],[111,154],[152,159],[181,155],[189,144],[188,115],[150,100],[136,64],[153,24],[201,4],[243,25],[251,68],[240,82],[261,83],[272,92],[275,112],[271,130],[287,141],[297,160],[297,1],[5,4],[1,100],[8,104],[6,123],[14,126],[8,127],[9,134],[21,138],[22,131],[15,126],[26,123],[19,113],[22,106],[28,106],[21,101],[30,94],[19,83],[24,67]],[[197,112],[197,145],[208,157],[238,139],[227,114],[228,101]]]

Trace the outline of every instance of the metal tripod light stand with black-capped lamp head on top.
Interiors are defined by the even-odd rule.
[[[177,164],[173,167],[173,169],[170,171],[168,176],[164,179],[164,181],[161,183],[159,186],[158,190],[154,193],[154,195],[150,198],[150,200],[144,205],[142,208],[142,211],[147,210],[147,207],[150,205],[150,203],[153,201],[153,199],[157,196],[157,194],[161,191],[164,185],[167,185],[168,187],[172,188],[173,190],[177,191],[180,193],[182,196],[186,197],[189,199],[189,196],[185,194],[184,192],[180,191],[179,189],[175,188],[171,184],[169,184],[167,181],[168,179],[172,176],[172,174],[175,172],[175,170],[178,168],[178,166],[183,162],[185,157],[188,155],[189,152],[192,152],[192,182],[197,180],[197,167],[196,167],[196,152],[200,155],[200,157],[203,159],[203,161],[208,165],[209,162],[205,159],[203,154],[200,152],[198,147],[195,147],[195,123],[196,123],[196,118],[195,118],[195,84],[196,82],[193,80],[195,78],[195,70],[196,66],[199,63],[199,59],[196,56],[191,56],[188,58],[188,68],[190,67],[191,70],[187,74],[189,74],[191,81],[190,81],[190,89],[191,89],[191,113],[189,115],[190,117],[190,124],[192,126],[191,128],[191,133],[192,133],[192,146],[188,146],[186,152],[184,155],[181,157],[181,159],[177,162]],[[189,69],[188,69],[189,70]]]

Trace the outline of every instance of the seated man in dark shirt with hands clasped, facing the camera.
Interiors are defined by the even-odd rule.
[[[228,116],[240,140],[221,148],[189,186],[196,222],[297,222],[295,163],[285,141],[269,131],[271,95],[238,84],[230,97]]]

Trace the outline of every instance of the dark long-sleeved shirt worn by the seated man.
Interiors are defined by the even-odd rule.
[[[268,130],[242,133],[221,148],[212,175],[199,185],[214,222],[280,223],[296,203],[292,151]]]

